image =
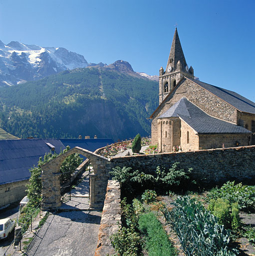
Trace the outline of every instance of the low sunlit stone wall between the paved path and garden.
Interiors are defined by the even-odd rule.
[[[120,213],[120,185],[115,180],[109,180],[106,189],[95,256],[112,255],[115,253],[114,248],[111,245],[110,235],[118,230],[118,224],[121,223]]]

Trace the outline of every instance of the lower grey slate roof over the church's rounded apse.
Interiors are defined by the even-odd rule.
[[[181,117],[198,133],[252,133],[250,130],[208,115],[202,109],[182,97],[159,118]]]

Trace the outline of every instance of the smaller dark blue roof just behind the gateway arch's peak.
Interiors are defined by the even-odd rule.
[[[94,152],[97,148],[101,148],[103,146],[114,143],[112,138],[60,138],[60,140],[65,146],[68,145],[70,148],[79,146],[92,152]],[[86,159],[85,156],[81,154],[80,156],[83,159]]]

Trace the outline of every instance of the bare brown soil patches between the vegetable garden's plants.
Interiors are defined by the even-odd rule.
[[[205,201],[203,198],[205,198],[206,193],[202,193],[200,195],[191,195],[192,197],[197,197],[198,200],[202,201],[204,204]],[[178,195],[174,194],[173,196],[158,196],[158,200],[165,203],[167,208],[174,207],[173,203],[175,198],[177,198]],[[207,205],[206,205],[207,206]],[[246,213],[246,212],[240,212],[240,219],[245,226],[251,226],[255,228],[255,213]],[[165,230],[170,236],[170,239],[175,246],[175,248],[178,251],[178,256],[185,256],[184,252],[181,249],[181,243],[179,241],[179,238],[177,237],[174,230],[168,225],[168,223],[165,221],[165,218],[162,216],[160,217],[160,221],[162,222]],[[240,251],[240,256],[255,256],[255,245],[250,243],[246,237],[239,237],[233,244],[236,246]]]

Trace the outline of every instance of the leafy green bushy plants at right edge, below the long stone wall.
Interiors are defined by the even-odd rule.
[[[255,209],[255,186],[236,184],[228,181],[221,188],[213,188],[207,195],[208,199],[223,198],[229,200],[230,204],[237,202],[240,210]]]

